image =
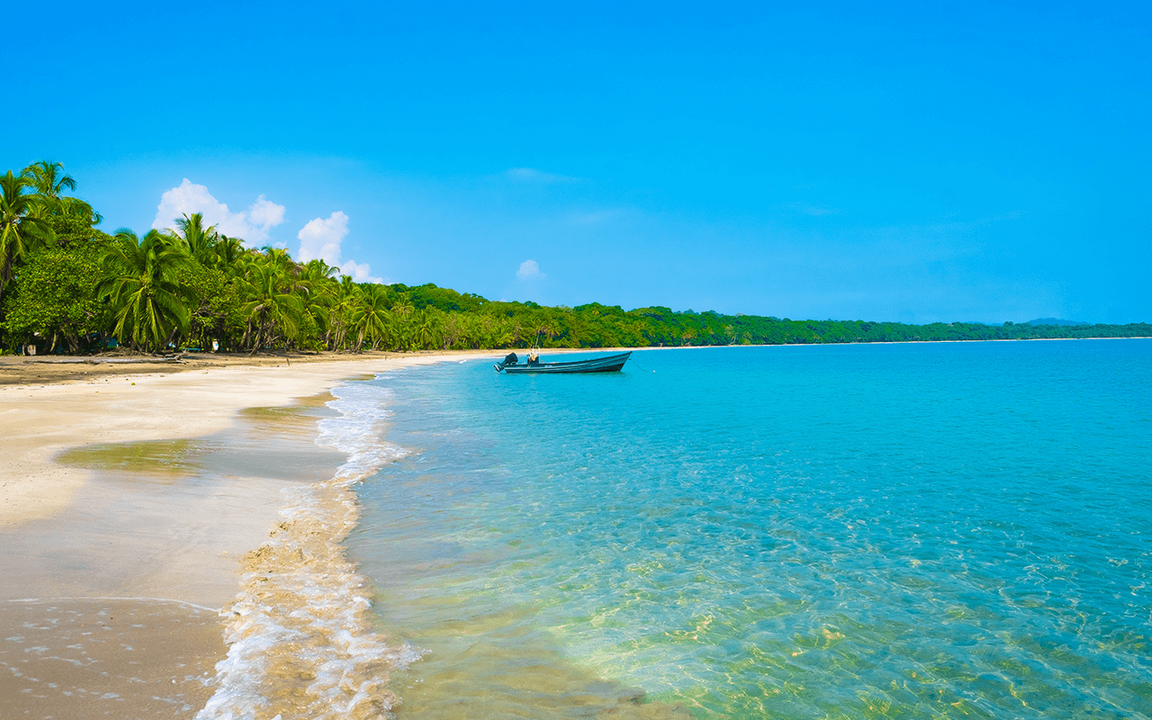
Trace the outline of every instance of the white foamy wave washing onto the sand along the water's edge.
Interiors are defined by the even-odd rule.
[[[387,718],[399,698],[392,672],[420,657],[374,630],[369,583],[346,558],[356,526],[354,486],[408,454],[380,439],[387,388],[333,388],[339,417],[319,422],[317,444],[348,454],[329,480],[286,491],[268,539],[242,561],[241,592],[221,611],[228,655],[196,720]]]

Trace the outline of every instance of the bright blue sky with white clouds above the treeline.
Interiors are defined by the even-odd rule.
[[[1152,6],[33,3],[0,172],[358,280],[1152,321]],[[17,78],[17,79],[14,79]]]

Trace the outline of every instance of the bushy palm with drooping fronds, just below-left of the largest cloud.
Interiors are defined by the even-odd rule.
[[[189,257],[179,241],[159,230],[141,238],[120,228],[101,264],[105,276],[97,294],[108,296],[113,334],[121,341],[128,338],[134,347],[154,351],[188,331],[190,298],[177,274]]]

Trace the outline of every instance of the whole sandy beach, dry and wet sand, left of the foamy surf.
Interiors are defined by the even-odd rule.
[[[476,355],[3,358],[6,717],[194,717],[282,491],[346,457],[313,442],[327,391]]]

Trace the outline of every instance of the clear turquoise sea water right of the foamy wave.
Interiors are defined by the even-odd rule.
[[[399,717],[1152,715],[1152,341],[634,359],[369,384]]]

